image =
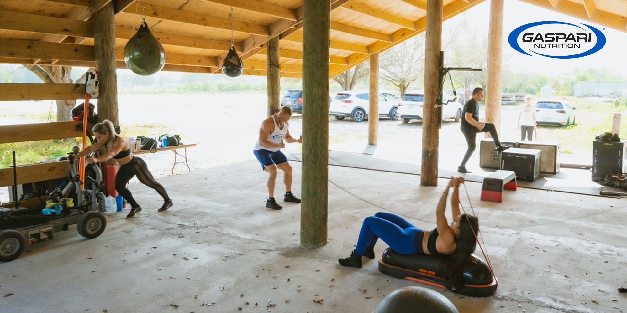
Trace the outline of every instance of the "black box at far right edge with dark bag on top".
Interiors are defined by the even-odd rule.
[[[594,140],[592,144],[592,180],[597,182],[604,180],[608,173],[627,173],[627,140],[600,141]]]

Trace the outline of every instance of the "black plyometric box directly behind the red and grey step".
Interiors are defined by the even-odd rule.
[[[501,170],[514,171],[518,180],[533,182],[540,176],[542,150],[509,148],[501,153]]]

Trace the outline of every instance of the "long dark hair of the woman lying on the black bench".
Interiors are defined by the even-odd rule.
[[[458,222],[460,232],[455,238],[457,244],[455,252],[440,262],[440,272],[456,290],[464,287],[464,266],[470,260],[470,255],[475,252],[477,246],[475,234],[479,232],[479,219],[473,215],[462,214]]]

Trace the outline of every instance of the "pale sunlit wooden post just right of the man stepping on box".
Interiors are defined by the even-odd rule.
[[[485,93],[485,121],[501,129],[501,54],[503,46],[503,0],[490,1],[490,30],[488,37],[488,69]],[[490,133],[485,133],[490,138]]]

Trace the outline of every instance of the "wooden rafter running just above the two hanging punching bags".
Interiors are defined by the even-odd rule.
[[[228,23],[226,17],[218,18],[216,16],[209,16],[206,14],[166,8],[164,6],[155,6],[153,4],[145,4],[145,7],[146,15],[152,16],[154,18],[167,19],[168,21],[176,21],[179,23],[207,26],[210,28],[231,29],[231,23]],[[135,14],[135,9],[126,8],[124,12]],[[233,30],[240,33],[268,36],[267,26],[260,24],[233,21]]]

